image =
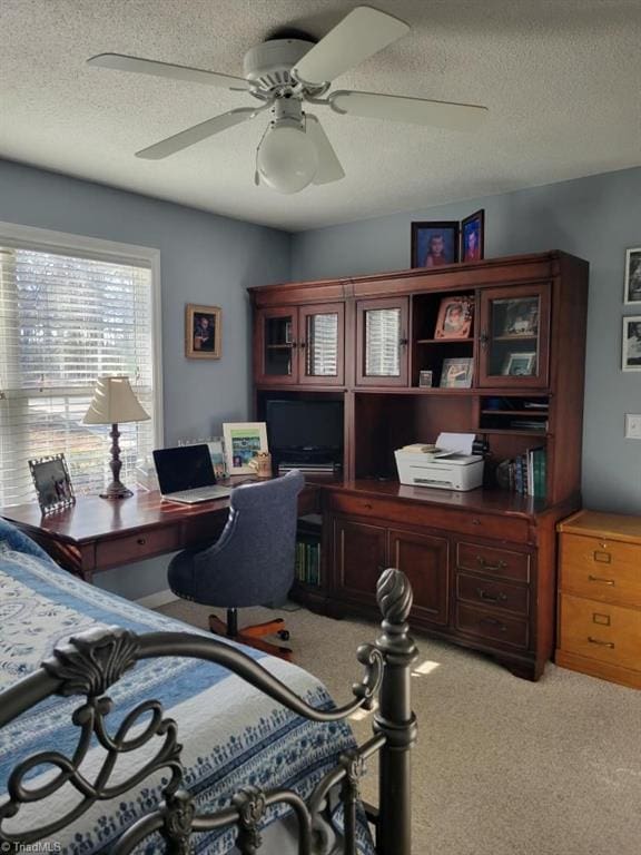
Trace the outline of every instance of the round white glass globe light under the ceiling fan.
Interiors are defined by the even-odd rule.
[[[305,189],[318,170],[318,153],[299,122],[275,122],[258,147],[257,166],[266,185],[278,193]]]

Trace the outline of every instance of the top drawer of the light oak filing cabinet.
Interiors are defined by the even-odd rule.
[[[561,590],[592,600],[641,606],[641,547],[561,534]]]

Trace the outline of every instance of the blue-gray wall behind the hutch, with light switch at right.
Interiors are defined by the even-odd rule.
[[[590,262],[583,442],[586,507],[641,512],[641,441],[624,414],[641,413],[641,373],[621,371],[625,248],[641,246],[641,168],[430,207],[294,235],[294,279],[410,266],[411,222],[462,219],[485,208],[485,257],[563,249]]]

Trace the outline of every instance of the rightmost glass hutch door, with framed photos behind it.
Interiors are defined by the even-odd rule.
[[[492,288],[481,296],[482,386],[545,386],[550,338],[548,285]]]

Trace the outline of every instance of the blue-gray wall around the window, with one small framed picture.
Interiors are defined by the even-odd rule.
[[[214,191],[214,188],[213,188]],[[0,160],[0,220],[160,249],[165,441],[249,415],[246,287],[289,277],[289,235]],[[223,357],[185,357],[185,304],[223,308]],[[125,596],[166,588],[165,563],[97,577]]]

